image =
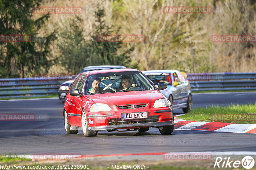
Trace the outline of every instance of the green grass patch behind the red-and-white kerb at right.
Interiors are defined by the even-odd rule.
[[[179,119],[205,121],[205,122],[226,122],[238,124],[256,124],[256,103],[245,105],[209,106],[193,109]]]

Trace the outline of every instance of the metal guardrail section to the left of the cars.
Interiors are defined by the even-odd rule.
[[[57,93],[60,84],[71,76],[0,79],[0,98],[48,96]]]

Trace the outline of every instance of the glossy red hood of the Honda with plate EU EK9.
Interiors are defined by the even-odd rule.
[[[164,98],[164,95],[158,91],[127,91],[88,95],[87,97],[95,103],[106,103],[114,107],[138,103],[154,104],[156,100]]]

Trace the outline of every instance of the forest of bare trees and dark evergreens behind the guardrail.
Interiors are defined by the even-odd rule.
[[[212,35],[256,35],[255,0],[0,0],[0,78],[77,74],[86,66],[129,65],[186,73],[256,72],[255,42],[212,42]],[[81,7],[80,14],[37,14],[34,7]],[[165,13],[207,6],[211,13]],[[144,42],[97,42],[100,34],[145,35]]]

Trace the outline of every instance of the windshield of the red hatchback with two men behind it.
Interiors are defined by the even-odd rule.
[[[85,95],[126,91],[156,90],[141,72],[111,72],[92,74],[86,79]]]

